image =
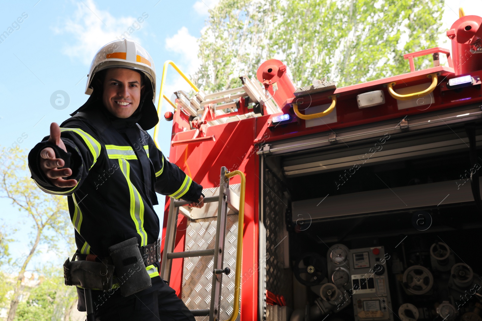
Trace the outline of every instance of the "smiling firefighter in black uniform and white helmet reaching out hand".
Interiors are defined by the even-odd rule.
[[[39,188],[67,195],[77,260],[109,260],[109,247],[137,238],[151,286],[128,296],[117,290],[124,283],[109,291],[86,290],[99,321],[195,320],[159,276],[160,226],[153,205],[158,204],[155,192],[198,208],[204,195],[202,186],[170,163],[147,133],[159,121],[155,91],[147,51],[130,39],[108,43],[92,61],[87,102],[60,127],[52,123],[50,136],[28,155]],[[78,286],[77,292],[78,309],[86,311],[84,289]]]

